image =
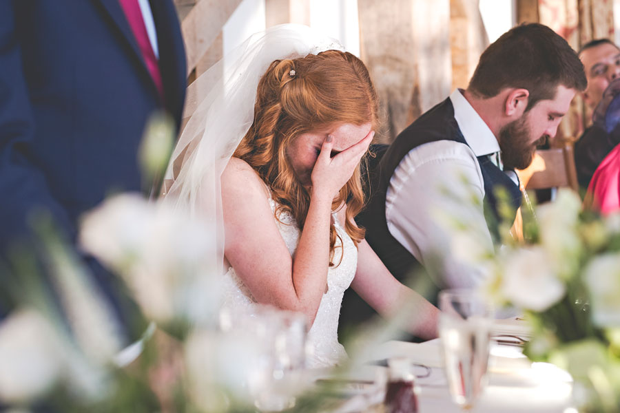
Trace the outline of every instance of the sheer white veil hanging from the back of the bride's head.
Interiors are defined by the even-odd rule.
[[[251,126],[258,81],[275,60],[331,49],[344,50],[307,26],[278,25],[250,36],[187,89],[189,120],[172,153],[161,199],[211,226],[205,231],[217,247],[210,263],[217,274],[223,273],[220,176]]]

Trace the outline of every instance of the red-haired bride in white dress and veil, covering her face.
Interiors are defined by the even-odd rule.
[[[214,67],[224,79],[206,88],[178,142],[165,198],[216,223],[225,306],[305,315],[314,367],[346,357],[337,330],[349,286],[382,315],[413,302],[418,337],[436,336],[438,313],[397,282],[353,220],[378,98],[362,61],[341,49],[281,25],[242,45],[231,69]]]

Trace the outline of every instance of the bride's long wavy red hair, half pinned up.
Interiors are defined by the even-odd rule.
[[[291,76],[291,70],[295,71]],[[271,189],[271,197],[303,229],[310,193],[296,178],[287,157],[291,142],[301,134],[338,125],[371,122],[378,127],[378,98],[364,63],[353,54],[327,50],[293,60],[277,60],[258,83],[254,122],[234,156],[253,167]],[[361,162],[360,162],[361,164]],[[353,217],[364,207],[359,165],[333,200],[332,209],[347,203],[344,229],[355,245],[364,239]],[[280,211],[276,211],[276,217]],[[330,227],[330,261],[338,237]],[[333,265],[333,262],[330,262]]]

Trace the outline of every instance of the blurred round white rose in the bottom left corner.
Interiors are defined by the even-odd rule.
[[[63,350],[48,320],[32,309],[4,319],[0,366],[0,400],[20,403],[50,390],[63,372]]]

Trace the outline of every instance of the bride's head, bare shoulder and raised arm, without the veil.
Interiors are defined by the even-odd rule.
[[[329,268],[349,262],[353,278],[356,253],[345,256],[343,245],[355,251],[364,238],[353,216],[377,108],[366,67],[338,50],[274,61],[260,79],[254,122],[222,176],[225,257],[256,301],[312,324]],[[287,235],[296,242],[285,244],[289,230],[274,218],[298,229]]]

